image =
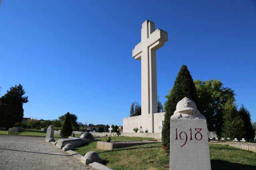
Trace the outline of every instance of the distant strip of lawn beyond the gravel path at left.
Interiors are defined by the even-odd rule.
[[[0,135],[8,135],[8,129],[0,129]],[[20,131],[11,135],[46,137],[46,132],[38,129],[21,129]],[[54,135],[54,137],[60,136]]]

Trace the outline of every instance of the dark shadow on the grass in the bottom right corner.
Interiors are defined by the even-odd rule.
[[[211,160],[212,170],[255,170],[256,166],[232,163],[224,160]]]

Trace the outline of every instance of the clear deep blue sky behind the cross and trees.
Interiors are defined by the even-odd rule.
[[[142,23],[168,32],[156,52],[162,104],[182,64],[192,78],[219,79],[256,121],[255,0],[2,0],[0,91],[22,84],[24,117],[122,125],[141,103],[132,58]]]

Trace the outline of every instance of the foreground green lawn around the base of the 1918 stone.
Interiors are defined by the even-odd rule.
[[[106,141],[107,137],[96,138]],[[142,137],[111,137],[112,141],[136,141],[151,138]],[[161,143],[150,143],[113,150],[96,148],[97,142],[91,142],[74,151],[86,154],[97,152],[103,164],[114,170],[166,170],[169,169],[169,156],[164,153]],[[212,170],[256,169],[256,154],[254,152],[229,147],[226,145],[209,144]]]

